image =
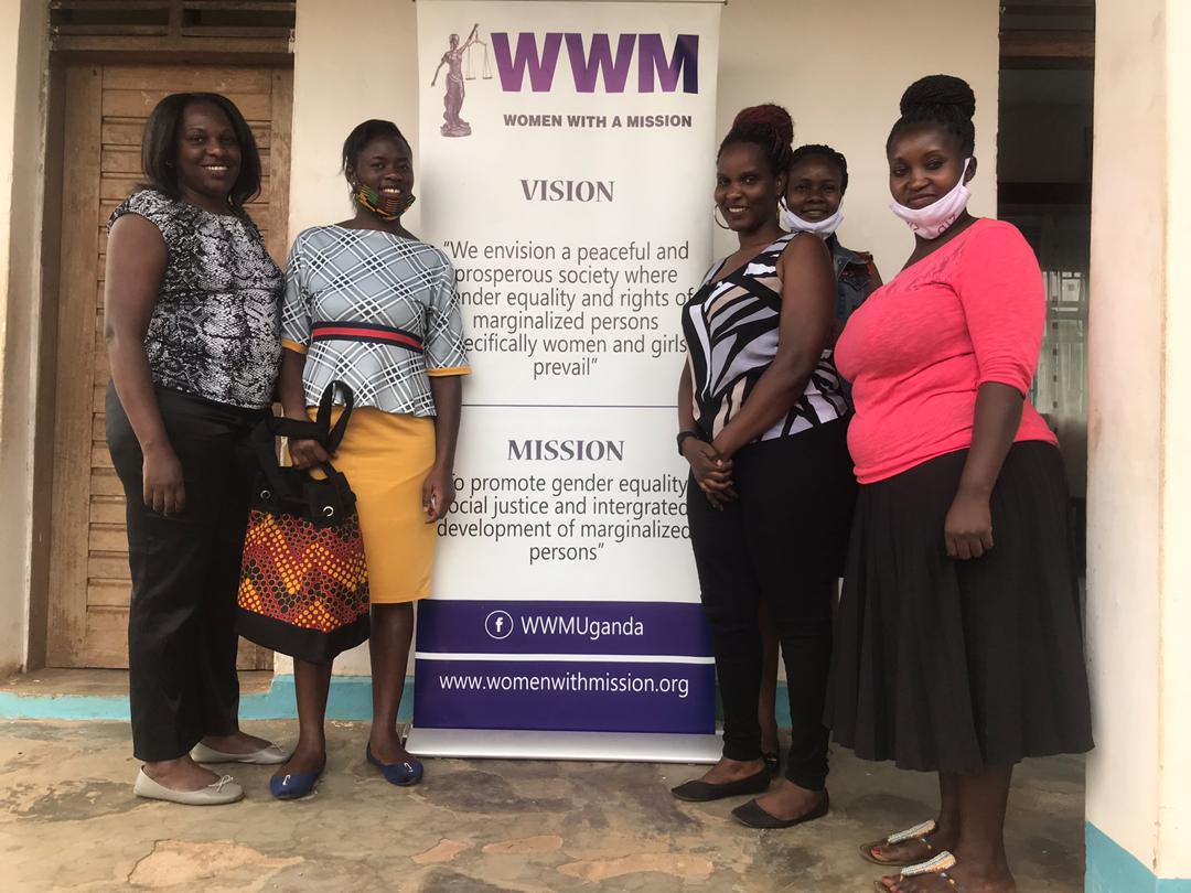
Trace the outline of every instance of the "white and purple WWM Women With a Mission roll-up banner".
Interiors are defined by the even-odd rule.
[[[422,0],[417,192],[473,375],[409,748],[715,760],[674,449],[718,2]]]

